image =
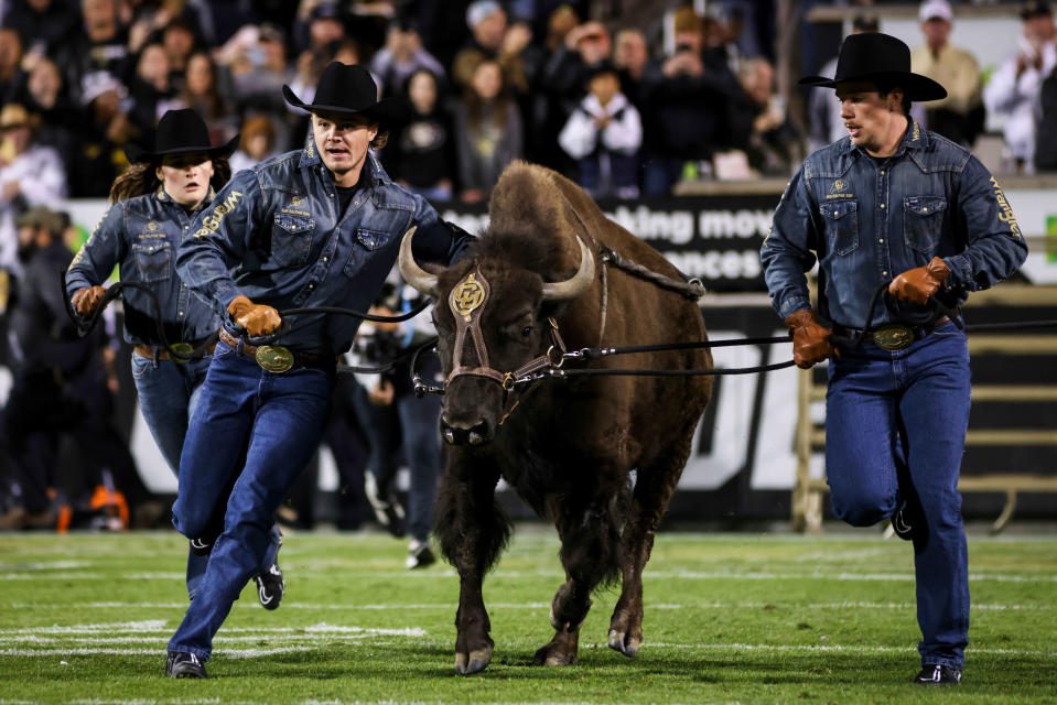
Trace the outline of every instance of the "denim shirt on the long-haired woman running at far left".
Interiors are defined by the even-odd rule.
[[[212,199],[211,189],[198,210]],[[114,204],[74,257],[66,272],[66,292],[72,295],[101,284],[117,264],[122,282],[149,284],[158,296],[169,343],[196,343],[208,337],[220,326],[219,319],[176,276],[176,249],[193,232],[193,215],[161,186],[152,194]],[[134,289],[126,289],[121,297],[125,339],[133,345],[161,345],[155,324],[159,315],[151,297]]]

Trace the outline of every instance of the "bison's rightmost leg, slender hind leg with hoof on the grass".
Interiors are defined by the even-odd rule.
[[[654,549],[654,533],[668,510],[690,453],[682,447],[649,467],[639,468],[632,509],[624,528],[623,586],[610,621],[610,648],[630,658],[643,644],[643,568]]]

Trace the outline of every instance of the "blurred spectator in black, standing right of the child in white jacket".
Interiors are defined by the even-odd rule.
[[[733,104],[744,99],[737,77],[716,50],[707,51],[702,19],[681,8],[673,17],[675,52],[650,62],[643,78],[645,143],[644,191],[667,195],[684,175],[697,177],[698,164],[710,163],[733,139]],[[742,130],[746,126],[740,126]],[[692,174],[684,174],[684,166]]]

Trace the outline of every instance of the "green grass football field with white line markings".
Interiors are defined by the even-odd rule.
[[[452,668],[457,579],[410,573],[380,534],[295,533],[288,592],[242,594],[206,681],[163,674],[184,611],[174,533],[0,535],[0,703],[1057,703],[1057,538],[970,536],[972,644],[958,688],[918,666],[910,546],[876,533],[662,533],[645,644],[606,647],[595,595],[580,663],[531,664],[562,579],[552,531],[519,527],[485,584],[495,658]]]

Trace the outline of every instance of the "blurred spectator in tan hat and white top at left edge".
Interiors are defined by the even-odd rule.
[[[15,273],[17,218],[66,196],[65,166],[58,152],[36,143],[37,122],[39,116],[15,102],[0,110],[0,267]]]

